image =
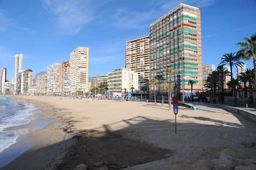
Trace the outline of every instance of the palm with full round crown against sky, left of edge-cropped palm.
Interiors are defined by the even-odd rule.
[[[233,66],[240,66],[241,64],[244,64],[242,61],[240,61],[241,58],[241,53],[236,53],[236,52],[230,52],[229,54],[226,53],[223,55],[223,58],[221,58],[221,64],[225,65],[228,64],[230,65],[230,72],[231,72],[231,80],[233,79],[233,71],[232,71],[232,67]]]

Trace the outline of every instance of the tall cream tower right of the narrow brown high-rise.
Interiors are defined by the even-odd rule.
[[[77,47],[70,53],[70,88],[86,91],[89,80],[89,48]]]

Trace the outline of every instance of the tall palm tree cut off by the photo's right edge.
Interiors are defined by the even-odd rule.
[[[256,70],[256,32],[248,37],[244,37],[244,42],[236,43],[236,46],[241,46],[241,57],[244,60],[253,59],[253,67]],[[256,86],[256,72],[254,72],[254,86]]]

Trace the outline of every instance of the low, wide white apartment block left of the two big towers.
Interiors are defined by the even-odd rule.
[[[139,75],[131,69],[114,69],[108,73],[108,80],[108,88],[113,92],[121,91],[121,88],[131,90],[134,87],[134,91],[139,89]]]

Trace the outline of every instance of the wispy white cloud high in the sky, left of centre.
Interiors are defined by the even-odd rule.
[[[92,0],[44,0],[43,7],[54,16],[59,33],[75,35],[94,19]]]

